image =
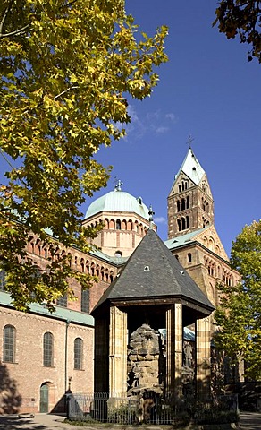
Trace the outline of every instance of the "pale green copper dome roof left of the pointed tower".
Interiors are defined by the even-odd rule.
[[[142,202],[141,197],[136,199],[133,195],[119,190],[117,187],[114,191],[106,193],[92,202],[88,207],[85,219],[100,212],[131,212],[144,219],[149,219],[147,206]]]

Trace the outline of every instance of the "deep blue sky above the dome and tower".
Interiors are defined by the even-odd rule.
[[[214,195],[215,227],[229,254],[243,226],[260,218],[261,64],[248,63],[248,47],[212,28],[213,0],[127,0],[126,6],[150,36],[162,24],[169,27],[169,62],[158,69],[150,98],[129,100],[126,139],[98,152],[114,171],[94,198],[114,189],[117,176],[122,190],[153,205],[159,236],[166,239],[166,199],[192,135]],[[4,173],[3,160],[0,167]]]

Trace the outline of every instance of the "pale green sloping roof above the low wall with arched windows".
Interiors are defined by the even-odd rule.
[[[9,293],[0,291],[0,303],[6,307],[12,308],[12,300]],[[81,312],[72,311],[71,309],[55,306],[55,312],[52,314],[46,309],[44,305],[29,305],[29,314],[40,314],[46,316],[47,318],[54,318],[56,320],[63,320],[74,324],[85,325],[88,327],[94,327],[94,319],[88,314],[83,314]]]

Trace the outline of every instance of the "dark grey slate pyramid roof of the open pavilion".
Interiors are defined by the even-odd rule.
[[[214,306],[152,229],[147,231],[118,277],[96,305],[107,299],[182,297],[214,310]]]

